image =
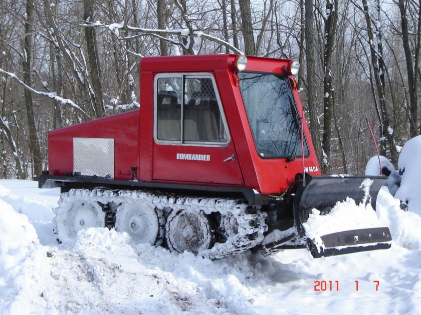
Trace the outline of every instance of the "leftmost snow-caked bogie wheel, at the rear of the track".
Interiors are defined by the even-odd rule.
[[[105,227],[105,212],[96,201],[78,199],[71,203],[61,202],[54,212],[59,242],[76,238],[81,229]]]

